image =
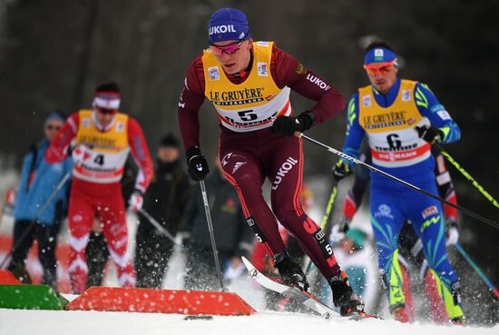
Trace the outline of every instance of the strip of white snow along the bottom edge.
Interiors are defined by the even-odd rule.
[[[54,335],[69,330],[71,335],[137,334],[498,334],[494,328],[403,324],[394,320],[323,320],[320,317],[264,311],[248,317],[217,317],[212,320],[184,320],[184,315],[52,310],[0,310],[0,335]]]

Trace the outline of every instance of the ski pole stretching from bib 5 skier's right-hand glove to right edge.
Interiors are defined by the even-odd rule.
[[[454,207],[455,209],[457,209],[457,210],[459,210],[459,211],[461,211],[461,212],[464,212],[465,214],[467,214],[467,215],[469,215],[469,216],[471,216],[471,217],[475,218],[476,220],[479,220],[479,221],[481,221],[481,222],[484,222],[484,223],[486,223],[486,224],[488,224],[488,225],[493,226],[493,227],[494,227],[494,228],[496,228],[496,229],[499,229],[499,224],[498,224],[497,222],[494,222],[494,221],[492,221],[492,220],[490,220],[490,219],[485,218],[484,216],[482,216],[482,215],[480,215],[480,214],[477,214],[477,213],[475,213],[475,212],[472,212],[472,211],[470,211],[470,210],[467,210],[467,209],[465,209],[464,207],[462,207],[462,206],[460,206],[460,205],[457,205],[457,204],[452,203],[452,202],[447,202],[445,199],[442,199],[442,198],[440,198],[440,197],[436,196],[435,194],[432,194],[431,192],[427,192],[426,190],[423,190],[423,189],[421,189],[421,188],[419,188],[419,187],[417,187],[417,186],[413,185],[413,184],[412,184],[412,183],[410,183],[410,182],[405,182],[405,181],[403,181],[403,180],[401,180],[401,179],[399,179],[399,178],[396,178],[395,176],[391,175],[390,173],[384,172],[384,171],[382,171],[382,170],[379,170],[379,169],[375,168],[375,167],[374,167],[374,166],[372,166],[372,165],[369,165],[369,164],[367,164],[367,163],[364,163],[364,162],[362,162],[362,161],[359,161],[359,160],[357,160],[356,158],[354,158],[354,157],[352,157],[352,156],[347,155],[347,153],[342,153],[342,152],[340,152],[339,150],[337,150],[337,149],[335,149],[335,148],[332,148],[332,147],[330,147],[330,146],[328,146],[328,145],[326,145],[326,144],[324,144],[324,143],[320,143],[320,142],[318,142],[317,140],[314,140],[314,139],[312,139],[312,138],[310,138],[310,137],[308,137],[308,136],[304,135],[303,133],[296,132],[296,133],[295,133],[295,136],[297,136],[297,137],[302,137],[302,138],[304,138],[304,139],[308,140],[308,141],[309,141],[309,142],[311,142],[311,143],[318,144],[319,146],[321,146],[321,147],[323,147],[323,148],[326,148],[326,149],[328,150],[328,152],[330,152],[330,153],[334,153],[334,154],[337,154],[339,157],[341,157],[341,158],[343,158],[343,159],[346,159],[347,161],[350,161],[350,162],[352,162],[352,163],[356,163],[357,165],[360,165],[360,166],[362,166],[362,167],[364,167],[364,168],[366,168],[367,170],[370,170],[370,171],[372,171],[372,172],[377,172],[377,173],[379,173],[379,174],[381,174],[381,175],[385,176],[386,178],[391,179],[391,180],[392,180],[392,181],[394,181],[394,182],[399,182],[399,183],[401,183],[401,184],[405,185],[406,187],[408,187],[408,188],[410,188],[410,189],[413,189],[413,190],[414,190],[414,191],[416,191],[416,192],[423,193],[423,194],[425,194],[426,196],[428,196],[428,197],[430,197],[430,198],[432,198],[432,199],[435,199],[435,200],[436,200],[436,201],[438,201],[438,202],[445,203],[445,204],[446,204],[446,205],[448,205],[448,206]]]

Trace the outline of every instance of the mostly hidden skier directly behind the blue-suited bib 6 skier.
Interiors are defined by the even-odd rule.
[[[438,195],[448,202],[457,203],[455,198],[454,184],[450,174],[445,166],[444,156],[438,152],[437,148],[432,147],[432,154],[435,157],[435,181],[438,189]],[[360,160],[371,164],[371,152],[367,146],[360,155]],[[365,169],[357,169],[355,172],[355,180],[351,190],[347,192],[345,202],[343,202],[343,220],[339,225],[339,232],[350,232],[348,229],[349,222],[353,220],[357,209],[360,207],[362,197],[367,189],[369,173]],[[444,205],[445,214],[445,237],[446,245],[451,245],[457,242],[459,231],[457,228],[457,211],[454,207]],[[399,321],[407,322],[415,320],[415,308],[412,299],[412,294],[409,290],[407,261],[415,265],[415,270],[419,271],[419,277],[424,281],[426,296],[431,305],[431,314],[433,320],[438,323],[448,321],[448,316],[443,306],[441,299],[442,283],[435,276],[435,272],[428,268],[425,261],[425,254],[421,240],[417,237],[416,232],[410,223],[406,223],[399,235],[399,245],[396,251],[397,257],[394,256],[394,271],[397,278],[402,281],[403,294],[396,295],[399,290],[398,286],[390,286],[388,290],[394,291],[390,295],[391,306],[396,306],[395,310],[391,310],[394,318]],[[350,276],[351,277],[351,276]]]

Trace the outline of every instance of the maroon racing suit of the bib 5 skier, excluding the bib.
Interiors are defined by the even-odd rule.
[[[230,83],[240,85],[241,89],[245,88],[244,82],[251,71],[257,71],[257,67],[252,66],[254,53],[253,48],[246,71],[240,74],[224,73]],[[206,95],[207,84],[207,66],[203,66],[203,59],[200,55],[191,63],[179,103],[179,123],[186,150],[199,146],[198,113]],[[213,66],[208,70],[212,68]],[[259,67],[258,71],[267,74],[266,68]],[[269,74],[279,89],[289,87],[317,102],[310,109],[314,113],[316,124],[327,121],[345,107],[343,96],[332,84],[305,69],[275,44],[272,44],[271,48]],[[211,75],[213,76],[210,80],[218,80],[221,74],[210,73]],[[279,222],[298,238],[303,251],[328,280],[337,276],[340,269],[332,249],[318,224],[303,212],[299,200],[303,179],[302,140],[273,133],[271,125],[275,119],[263,129],[243,132],[231,130],[225,125],[227,118],[222,119],[220,117],[220,163],[225,176],[239,193],[249,226],[264,244],[269,255],[273,257],[286,250],[279,235],[277,217]],[[266,178],[271,183],[272,210],[262,196],[262,184]]]

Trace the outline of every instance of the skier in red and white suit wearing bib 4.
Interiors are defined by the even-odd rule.
[[[129,206],[142,207],[142,194],[152,179],[152,160],[141,126],[118,113],[120,90],[114,83],[97,87],[92,110],[73,113],[45,153],[49,163],[61,162],[73,146],[73,184],[69,201],[70,267],[73,291],[86,289],[85,249],[98,217],[118,269],[118,283],[133,287],[135,271],[127,250],[128,232],[120,180],[128,153],[139,166]],[[72,143],[73,142],[73,143]]]

